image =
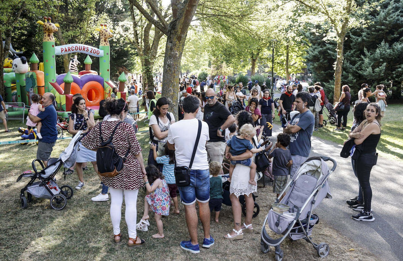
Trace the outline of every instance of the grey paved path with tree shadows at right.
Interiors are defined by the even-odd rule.
[[[283,131],[277,124],[274,124],[273,130],[272,140]],[[351,158],[340,157],[341,148],[339,144],[312,136],[310,156],[324,155],[337,161],[336,170],[329,176],[333,199],[324,199],[315,212],[321,220],[374,255],[388,261],[403,260],[403,165],[378,157],[370,178],[375,221],[356,221],[351,215],[357,211],[351,209],[346,200],[358,195],[358,182],[351,167]],[[329,168],[331,166],[330,162]],[[331,248],[332,242],[327,243]]]

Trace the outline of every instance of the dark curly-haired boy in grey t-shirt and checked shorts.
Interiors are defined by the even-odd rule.
[[[285,189],[288,180],[288,168],[293,165],[291,159],[291,152],[286,148],[290,144],[290,135],[287,133],[280,133],[277,135],[277,142],[273,149],[270,151],[269,159],[273,159],[273,193],[280,195],[281,191]],[[279,198],[283,199],[284,195]]]

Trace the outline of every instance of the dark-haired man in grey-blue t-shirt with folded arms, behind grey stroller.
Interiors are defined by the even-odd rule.
[[[284,132],[290,135],[289,150],[293,159],[290,178],[293,178],[299,166],[307,160],[311,152],[311,136],[314,131],[315,117],[309,110],[311,96],[306,91],[297,93],[295,97],[295,109],[299,112],[284,128]]]

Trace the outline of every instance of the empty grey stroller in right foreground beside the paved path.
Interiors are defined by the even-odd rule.
[[[333,163],[331,170],[328,169],[326,161]],[[335,160],[321,156],[310,157],[299,167],[293,180],[288,182],[280,196],[286,193],[288,188],[289,191],[280,202],[276,199],[264,220],[260,239],[260,249],[263,253],[268,253],[270,247],[274,247],[275,259],[281,261],[283,250],[280,249],[280,243],[287,237],[291,240],[303,238],[312,244],[319,257],[329,254],[329,245],[324,242],[314,243],[310,235],[315,224],[319,222],[318,215],[312,211],[324,198],[332,198],[328,177],[336,166]],[[266,231],[266,224],[272,232],[280,235],[280,238],[271,238]]]

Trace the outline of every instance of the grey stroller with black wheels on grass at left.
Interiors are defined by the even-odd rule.
[[[73,197],[73,188],[69,185],[59,187],[54,177],[63,164],[65,168],[70,168],[74,165],[78,142],[84,137],[80,135],[80,133],[81,131],[77,133],[70,142],[69,147],[60,154],[58,159],[50,158],[48,160],[48,166],[46,167],[40,160],[35,159],[32,162],[33,170],[26,171],[17,178],[17,182],[19,182],[21,178],[31,178],[28,184],[21,189],[20,200],[23,209],[27,208],[27,202],[32,201],[32,196],[50,199],[50,206],[56,210],[62,210],[66,207],[67,199]],[[36,169],[35,162],[39,162],[42,170],[38,171]],[[39,181],[35,182],[37,179]],[[25,191],[27,192],[27,197],[25,197]]]

